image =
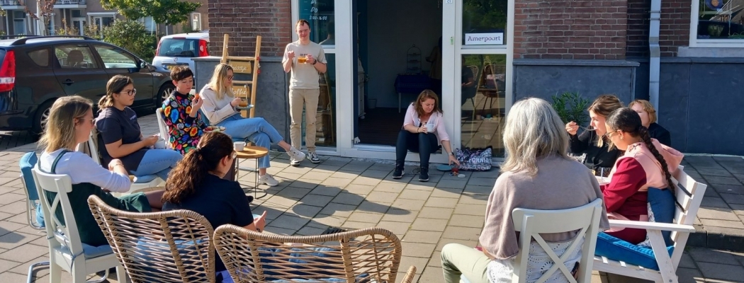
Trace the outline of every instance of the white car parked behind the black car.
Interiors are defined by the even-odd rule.
[[[188,65],[193,71],[191,58],[209,56],[208,45],[209,33],[206,31],[163,36],[158,42],[158,51],[155,51],[153,65],[163,68]]]

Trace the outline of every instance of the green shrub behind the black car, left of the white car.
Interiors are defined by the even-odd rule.
[[[153,62],[158,38],[145,30],[141,22],[115,20],[103,27],[103,41],[135,53],[146,62]]]

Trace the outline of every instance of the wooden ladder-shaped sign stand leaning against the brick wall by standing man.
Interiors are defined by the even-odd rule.
[[[246,100],[250,98],[251,114],[248,115],[247,111],[241,111],[243,117],[254,117],[256,111],[256,88],[258,85],[258,73],[260,68],[260,54],[261,54],[261,36],[256,36],[256,53],[255,56],[229,56],[228,54],[228,41],[230,36],[225,33],[225,41],[222,43],[222,60],[219,62],[230,65],[233,68],[233,74],[252,74],[253,79],[247,80],[233,80],[233,93],[236,97],[244,97]],[[248,88],[248,85],[251,85]]]

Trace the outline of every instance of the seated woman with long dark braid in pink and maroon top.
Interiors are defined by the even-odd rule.
[[[625,154],[612,168],[609,183],[602,188],[611,218],[648,221],[648,190],[674,189],[670,172],[682,162],[682,153],[650,137],[641,117],[631,108],[620,108],[606,120],[607,139]],[[646,230],[611,230],[607,234],[638,244]]]

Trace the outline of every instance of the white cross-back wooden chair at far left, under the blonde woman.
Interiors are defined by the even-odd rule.
[[[67,198],[67,193],[72,191],[70,176],[48,174],[40,172],[37,168],[32,169],[31,172],[44,213],[46,238],[49,245],[50,282],[61,282],[62,270],[71,273],[74,283],[82,283],[86,282],[89,274],[109,270],[111,267],[116,267],[118,282],[126,282],[124,267],[121,266],[110,247],[92,247],[80,241],[77,224],[72,215],[72,206]],[[51,204],[48,198],[45,198],[45,192],[56,193]],[[54,213],[60,206],[65,224],[62,224]]]

